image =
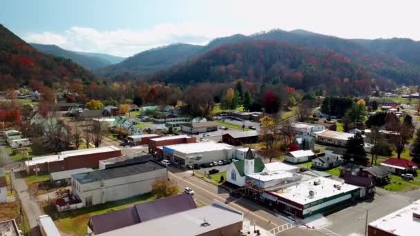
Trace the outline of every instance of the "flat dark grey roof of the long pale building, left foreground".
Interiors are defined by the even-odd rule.
[[[105,170],[95,170],[88,173],[76,174],[72,175],[72,177],[79,181],[80,184],[87,184],[101,180],[117,179],[130,175],[138,175],[141,173],[147,173],[164,168],[166,167],[161,164],[158,164],[158,162],[147,161],[145,163],[136,164],[133,166],[123,166]]]

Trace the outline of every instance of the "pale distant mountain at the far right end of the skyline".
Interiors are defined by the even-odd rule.
[[[412,66],[420,65],[420,42],[412,39],[354,39],[357,43],[376,52],[398,57]]]

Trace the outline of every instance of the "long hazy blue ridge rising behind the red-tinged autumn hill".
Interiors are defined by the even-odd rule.
[[[133,75],[133,77],[150,75],[153,72],[168,69],[175,63],[179,64],[197,58],[218,46],[256,40],[287,42],[309,50],[324,50],[326,52],[331,50],[351,59],[360,66],[369,68],[374,72],[372,75],[374,77],[387,77],[397,81],[397,83],[406,84],[420,82],[420,63],[412,63],[415,59],[410,59],[408,55],[405,57],[398,56],[397,52],[399,50],[397,49],[395,49],[397,51],[395,53],[388,53],[386,50],[376,50],[360,41],[321,35],[306,30],[292,30],[289,32],[285,30],[270,30],[249,36],[232,35],[230,37],[214,39],[206,46],[181,44],[182,47],[189,48],[185,55],[169,53],[173,49],[172,47],[176,47],[176,45],[162,47],[151,50],[153,53],[146,51],[131,57],[130,66],[124,66],[125,61],[122,61],[122,63],[108,66],[105,69],[100,68],[97,70],[97,73],[106,77],[115,77],[120,73],[125,73],[125,76]],[[164,60],[162,60],[163,63],[155,66],[155,59],[161,57],[164,57]],[[417,58],[420,55],[411,55],[410,57]]]

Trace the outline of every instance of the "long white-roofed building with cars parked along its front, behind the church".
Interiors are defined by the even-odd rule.
[[[234,157],[235,147],[220,143],[176,144],[162,147],[165,159],[180,166],[193,166]]]

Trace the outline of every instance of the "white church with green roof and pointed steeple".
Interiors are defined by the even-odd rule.
[[[244,160],[233,161],[226,170],[226,181],[236,186],[245,186],[246,175],[262,173],[265,166],[262,159],[255,158],[251,148],[248,149]]]

